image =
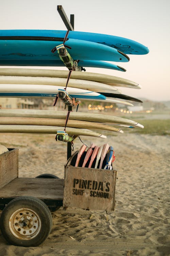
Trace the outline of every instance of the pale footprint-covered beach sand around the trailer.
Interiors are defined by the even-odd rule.
[[[114,133],[112,133],[114,134]],[[115,135],[115,134],[114,134]],[[109,143],[115,150],[116,207],[108,214],[61,207],[52,213],[53,227],[38,247],[9,245],[0,235],[1,256],[170,255],[169,136],[118,134],[81,139],[90,145]],[[0,143],[19,148],[19,176],[53,173],[64,177],[67,144],[54,135],[0,134]],[[74,142],[74,150],[82,143]]]

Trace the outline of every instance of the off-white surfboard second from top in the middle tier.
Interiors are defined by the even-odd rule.
[[[51,78],[51,77],[24,77],[24,76],[0,76],[0,84],[34,84],[37,85],[55,85],[66,86],[67,78]],[[111,85],[98,83],[94,81],[69,79],[68,87],[74,87],[94,92],[121,93],[121,91]]]

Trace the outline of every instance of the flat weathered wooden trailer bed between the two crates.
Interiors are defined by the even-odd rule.
[[[39,199],[63,200],[64,179],[15,178],[0,189],[0,198],[33,196]]]

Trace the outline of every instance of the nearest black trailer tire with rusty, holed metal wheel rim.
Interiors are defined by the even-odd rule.
[[[51,232],[52,216],[47,205],[35,197],[18,197],[2,211],[0,229],[7,242],[38,246]]]

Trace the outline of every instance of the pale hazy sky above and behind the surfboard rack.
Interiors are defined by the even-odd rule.
[[[147,46],[146,55],[129,55],[130,62],[117,70],[86,68],[129,79],[141,90],[121,87],[122,94],[155,101],[170,100],[170,1],[169,0],[0,0],[0,29],[66,30],[57,12],[62,5],[74,30],[129,38]],[[57,67],[57,69],[65,69]]]

